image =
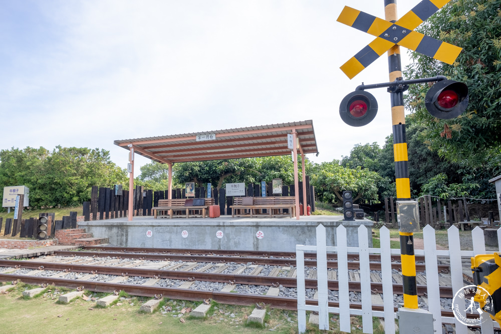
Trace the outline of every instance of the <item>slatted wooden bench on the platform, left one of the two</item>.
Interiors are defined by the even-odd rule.
[[[152,208],[155,218],[202,217],[208,213],[210,205],[214,205],[213,198],[204,198],[205,205],[185,206],[187,198],[159,199],[158,206]]]

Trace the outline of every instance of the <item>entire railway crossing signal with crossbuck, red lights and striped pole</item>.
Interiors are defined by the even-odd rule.
[[[398,19],[396,0],[385,0],[385,20],[350,7],[345,7],[337,20],[340,23],[376,36],[374,41],[341,66],[341,71],[348,78],[353,79],[363,69],[388,51],[388,74],[390,82],[373,85],[362,84],[358,86],[355,92],[348,94],[343,99],[339,112],[343,121],[351,126],[368,124],[374,119],[377,113],[377,102],[372,95],[364,90],[388,87],[388,92],[391,96],[395,185],[397,201],[401,203],[411,201],[403,92],[409,88],[410,84],[438,82],[428,91],[425,98],[425,106],[433,116],[442,119],[459,116],[468,104],[468,89],[462,83],[452,82],[443,76],[413,80],[403,80],[402,78],[400,46],[447,64],[453,64],[461,52],[462,49],[459,47],[414,31],[421,23],[448,2],[449,0],[422,0],[407,14]],[[346,210],[345,206],[344,208]],[[411,216],[403,214],[400,217],[400,220],[403,220],[400,221],[400,226],[408,224],[412,220]],[[347,218],[346,215],[344,218]],[[412,311],[419,307],[413,232],[400,229],[399,234],[404,290],[403,309],[406,312],[410,311],[410,316],[405,317],[402,315],[401,320],[402,322],[408,322],[406,323],[407,328],[421,330],[420,328],[423,325],[431,325],[435,327],[435,331],[438,331],[441,328],[433,324],[431,314],[427,313],[426,320],[424,320],[424,317],[419,316],[422,315],[420,312]],[[407,314],[406,312],[404,313]]]

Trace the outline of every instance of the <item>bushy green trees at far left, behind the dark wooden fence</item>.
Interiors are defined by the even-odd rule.
[[[30,188],[31,207],[73,206],[90,199],[91,187],[127,185],[126,171],[117,167],[109,152],[61,147],[0,151],[0,187]]]

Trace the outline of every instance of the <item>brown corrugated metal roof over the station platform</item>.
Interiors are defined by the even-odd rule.
[[[305,154],[318,153],[313,121],[115,140],[114,144],[160,163],[239,159],[291,154],[287,134],[296,129]],[[215,135],[203,140],[203,135]],[[197,140],[198,139],[198,140]]]

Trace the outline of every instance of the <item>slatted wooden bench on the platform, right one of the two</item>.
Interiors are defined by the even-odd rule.
[[[294,196],[270,196],[270,197],[251,197],[253,204],[244,205],[243,197],[234,197],[231,208],[231,217],[283,217],[296,216],[296,197]],[[266,209],[267,213],[263,213]],[[284,209],[289,212],[285,213]]]

